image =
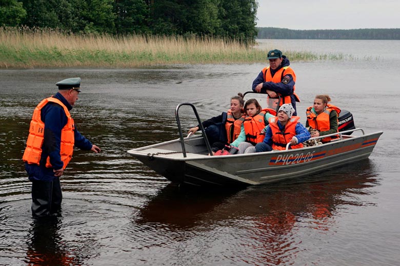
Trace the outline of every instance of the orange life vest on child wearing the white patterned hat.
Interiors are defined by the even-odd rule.
[[[292,116],[291,119],[285,125],[284,130],[281,131],[277,124],[278,118],[271,117],[269,119],[269,126],[272,130],[272,149],[274,150],[284,150],[286,145],[296,136],[296,124],[300,118],[297,116]],[[303,143],[297,143],[296,145],[291,145],[291,149],[302,148]]]

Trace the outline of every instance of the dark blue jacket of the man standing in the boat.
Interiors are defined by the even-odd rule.
[[[289,59],[285,55],[283,55],[282,58],[283,58],[283,61],[276,70],[269,69],[269,71],[271,71],[271,76],[273,76],[276,73],[276,71],[278,71],[279,69],[282,69],[284,66],[290,65]],[[284,96],[290,95],[290,100],[292,102],[293,108],[294,108],[294,110],[296,110],[296,98],[293,95],[293,86],[294,86],[295,82],[293,80],[292,75],[288,74],[285,76],[289,76],[289,82],[287,84],[284,84],[283,82],[279,82],[279,83],[274,83],[272,81],[266,82],[264,80],[263,71],[261,71],[253,81],[252,90],[253,90],[253,92],[255,92],[255,87],[259,83],[263,83],[263,88],[261,89],[261,93],[266,94],[267,90],[270,90],[270,91],[279,93]],[[295,111],[293,116],[296,116],[296,115],[297,115],[297,112]]]

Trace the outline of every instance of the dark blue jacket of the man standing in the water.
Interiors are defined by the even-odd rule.
[[[72,109],[72,106],[60,93],[53,97],[60,100],[68,110]],[[60,156],[61,130],[67,124],[68,118],[61,105],[49,102],[42,108],[41,119],[45,123],[41,161],[39,165],[25,163],[25,169],[30,180],[51,181],[55,178],[53,169],[61,169],[64,165]],[[82,136],[76,127],[74,129],[74,146],[82,150],[92,148],[92,143]],[[48,156],[53,168],[45,166]]]

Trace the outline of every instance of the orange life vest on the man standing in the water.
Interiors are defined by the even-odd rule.
[[[42,156],[42,145],[44,141],[45,123],[41,119],[42,108],[48,103],[54,102],[64,108],[65,115],[68,118],[67,124],[61,130],[60,155],[65,169],[69,161],[71,161],[74,149],[74,120],[69,114],[68,108],[56,98],[46,98],[41,101],[33,111],[32,120],[30,123],[29,136],[26,143],[26,148],[22,160],[29,164],[39,165]],[[50,157],[47,157],[46,167],[52,167]]]

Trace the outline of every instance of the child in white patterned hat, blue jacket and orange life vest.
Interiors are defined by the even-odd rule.
[[[291,103],[279,107],[278,115],[269,119],[265,138],[255,145],[256,152],[285,150],[290,143],[290,149],[302,148],[303,142],[311,136],[307,128],[300,123],[299,117],[293,116],[294,108]]]

